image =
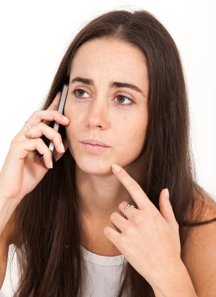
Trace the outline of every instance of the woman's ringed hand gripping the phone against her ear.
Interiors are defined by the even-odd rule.
[[[62,157],[64,152],[60,144],[61,135],[49,127],[51,121],[56,121],[67,126],[70,120],[65,120],[58,108],[61,92],[58,92],[47,110],[35,111],[27,121],[31,127],[31,139],[25,137],[28,127],[25,125],[12,139],[10,148],[0,171],[0,198],[10,199],[12,203],[18,203],[28,193],[35,189],[44,175],[51,168],[51,151],[40,138],[43,135],[53,141],[57,156],[56,161]],[[63,140],[65,150],[68,148],[66,139]],[[43,157],[40,157],[35,150]],[[43,161],[44,159],[44,161]]]

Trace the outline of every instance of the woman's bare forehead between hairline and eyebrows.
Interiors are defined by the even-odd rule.
[[[116,78],[148,79],[147,65],[141,50],[122,41],[91,40],[75,54],[71,74],[114,75]]]

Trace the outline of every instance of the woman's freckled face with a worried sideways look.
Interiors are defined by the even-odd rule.
[[[89,79],[92,84],[71,84],[76,77]],[[113,82],[131,84],[140,91],[112,87]],[[105,39],[89,41],[78,49],[64,114],[70,118],[66,126],[68,147],[81,170],[106,175],[112,172],[113,163],[125,167],[139,156],[147,126],[147,95],[147,66],[138,49]],[[81,141],[89,138],[109,148],[87,151]]]

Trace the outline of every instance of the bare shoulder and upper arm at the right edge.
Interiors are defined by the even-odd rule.
[[[216,218],[216,202],[205,195],[205,214],[201,221]],[[199,297],[215,297],[216,221],[191,228],[182,258]]]

